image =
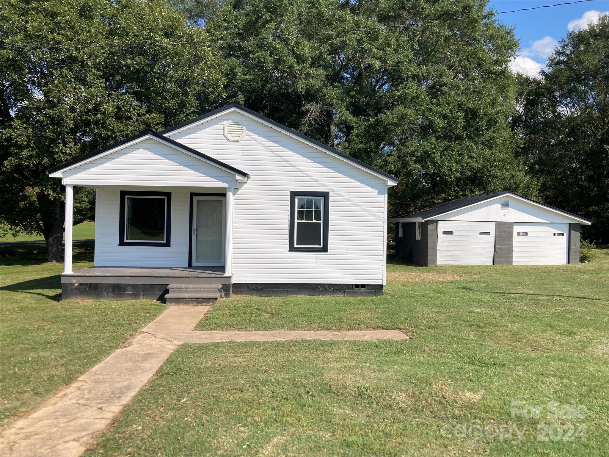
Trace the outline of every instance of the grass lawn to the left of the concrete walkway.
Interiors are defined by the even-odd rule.
[[[5,248],[2,248],[3,255]],[[32,250],[32,252],[36,252]],[[60,301],[63,264],[37,255],[2,257],[0,266],[0,424],[5,427],[71,383],[157,316],[150,301]],[[93,252],[74,255],[91,266]]]

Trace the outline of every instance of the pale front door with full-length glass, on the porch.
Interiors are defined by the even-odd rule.
[[[225,198],[192,197],[192,266],[224,266]]]

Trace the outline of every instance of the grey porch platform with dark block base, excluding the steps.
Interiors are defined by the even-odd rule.
[[[175,283],[219,285],[220,297],[228,297],[232,277],[220,266],[89,267],[62,275],[62,299],[160,300]]]

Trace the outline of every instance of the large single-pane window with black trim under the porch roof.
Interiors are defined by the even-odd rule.
[[[119,246],[171,246],[171,192],[121,191]]]

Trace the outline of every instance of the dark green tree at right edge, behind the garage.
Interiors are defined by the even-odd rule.
[[[521,155],[544,202],[593,221],[591,241],[609,243],[609,16],[569,33],[541,79],[519,76]]]

